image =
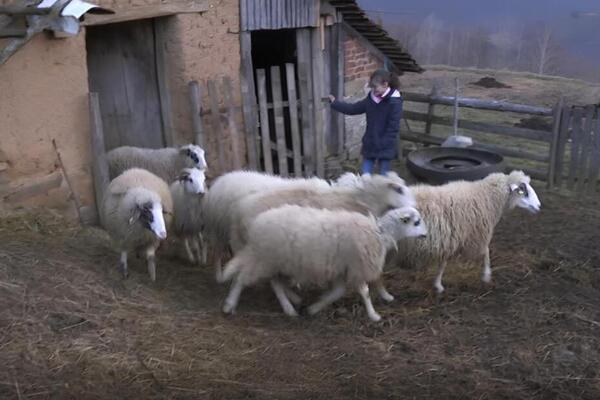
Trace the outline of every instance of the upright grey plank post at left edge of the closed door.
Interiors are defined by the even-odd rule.
[[[102,128],[102,114],[100,113],[100,100],[98,93],[90,93],[90,122],[92,128],[92,174],[94,176],[94,193],[96,195],[96,210],[101,226],[104,225],[102,218],[102,199],[104,192],[110,182],[108,174],[108,161],[106,160],[106,148],[104,147],[104,130]]]

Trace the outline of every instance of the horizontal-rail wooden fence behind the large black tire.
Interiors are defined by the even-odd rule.
[[[438,96],[435,90],[433,90],[431,94],[403,93],[403,97],[405,101],[405,120],[424,123],[424,129],[422,132],[416,132],[410,129],[410,125],[407,123],[409,129],[404,129],[403,126],[401,133],[402,141],[425,145],[441,144],[446,137],[433,135],[431,133],[432,127],[434,125],[441,125],[449,127],[448,131],[450,131],[453,126],[453,119],[449,116],[435,115],[436,106],[453,105],[454,97]],[[411,111],[410,109],[407,109],[409,107],[406,106],[406,102],[426,104],[427,112]],[[536,164],[542,165],[542,168],[525,167],[521,169],[525,170],[532,178],[544,180],[546,182],[554,181],[555,168],[553,159],[557,146],[557,137],[563,110],[562,102],[557,104],[554,108],[546,108],[501,101],[459,98],[458,104],[461,109],[468,108],[495,112],[510,112],[529,116],[551,117],[552,129],[549,130],[520,128],[509,125],[473,121],[470,119],[460,119],[458,127],[463,130],[476,131],[487,135],[499,135],[506,138],[527,140],[537,143],[538,146],[536,146],[536,151],[531,151],[524,149],[523,146],[520,145],[511,146],[509,141],[507,141],[508,144],[500,145],[498,143],[486,143],[485,140],[475,138],[473,147],[493,151],[513,159],[534,161]],[[497,140],[495,142],[497,142]],[[512,168],[513,166],[508,165],[508,167]]]

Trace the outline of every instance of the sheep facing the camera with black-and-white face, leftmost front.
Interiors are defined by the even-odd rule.
[[[150,279],[156,281],[155,253],[167,238],[173,200],[158,176],[132,168],[113,179],[102,201],[104,227],[121,253],[119,269],[128,276],[127,252],[144,250]]]

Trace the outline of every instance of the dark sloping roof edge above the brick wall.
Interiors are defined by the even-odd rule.
[[[399,72],[423,72],[412,56],[402,48],[381,26],[365,14],[356,0],[329,0],[344,17],[344,22],[367,39],[385,55]]]

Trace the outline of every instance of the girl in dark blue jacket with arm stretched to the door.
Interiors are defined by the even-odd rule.
[[[375,163],[379,173],[390,170],[391,160],[398,156],[398,132],[402,117],[400,82],[396,74],[384,69],[373,72],[369,79],[371,91],[363,100],[350,104],[329,95],[331,108],[348,115],[367,114],[367,130],[362,138],[362,173],[372,174]]]

